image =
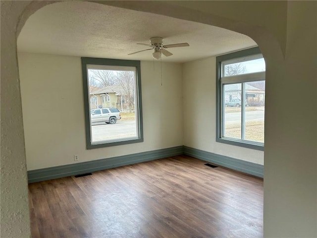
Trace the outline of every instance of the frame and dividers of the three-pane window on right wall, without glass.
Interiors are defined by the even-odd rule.
[[[216,142],[264,151],[264,143],[262,142],[248,141],[248,140],[235,139],[235,138],[222,136],[223,126],[224,126],[222,119],[223,119],[223,113],[224,113],[223,108],[224,108],[224,101],[225,101],[224,95],[222,92],[223,90],[222,85],[225,85],[225,82],[228,82],[228,78],[230,78],[230,84],[242,83],[241,90],[244,91],[243,83],[253,82],[253,81],[263,81],[263,80],[265,81],[265,71],[264,71],[264,72],[256,72],[256,73],[239,74],[239,75],[233,75],[233,76],[225,76],[226,78],[224,80],[225,82],[222,82],[221,78],[222,78],[222,72],[224,70],[222,62],[223,61],[226,61],[226,62],[246,61],[250,59],[256,59],[257,56],[259,55],[262,55],[262,52],[260,51],[259,47],[255,47],[255,48],[250,48],[247,50],[233,52],[233,53],[216,57]],[[245,60],[241,60],[242,58],[244,58]],[[241,77],[245,78],[243,82],[241,81]],[[240,100],[241,102],[245,101],[244,97],[242,97]],[[243,104],[244,103],[242,103],[242,105]],[[243,108],[245,107],[242,107],[242,109]],[[244,112],[241,111],[241,114],[243,115]],[[244,116],[242,116],[242,118],[243,117]],[[241,123],[244,123],[244,122],[241,121]]]

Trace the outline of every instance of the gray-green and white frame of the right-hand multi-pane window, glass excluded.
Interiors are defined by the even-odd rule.
[[[265,71],[224,76],[224,65],[263,58],[258,47],[216,57],[216,141],[251,149],[264,150],[264,143],[245,139],[245,88],[244,83],[265,81]],[[241,83],[241,139],[224,136],[224,85]]]

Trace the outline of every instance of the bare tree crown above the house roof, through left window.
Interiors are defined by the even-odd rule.
[[[104,88],[113,85],[115,81],[115,74],[112,70],[90,69],[89,70],[89,85]]]

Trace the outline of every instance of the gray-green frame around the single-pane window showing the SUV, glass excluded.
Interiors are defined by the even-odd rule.
[[[142,95],[141,95],[141,63],[139,60],[114,60],[114,59],[102,59],[102,58],[89,58],[82,57],[82,78],[83,78],[83,90],[84,90],[84,112],[85,112],[85,129],[86,129],[86,148],[96,149],[109,146],[125,145],[132,143],[143,142],[143,114],[142,114]],[[103,143],[92,144],[91,142],[91,125],[90,125],[90,109],[89,109],[89,87],[88,87],[88,70],[87,65],[106,65],[106,66],[130,66],[136,68],[136,90],[135,97],[138,105],[135,106],[138,109],[137,120],[137,134],[138,138],[127,139],[122,138],[119,141],[103,141]],[[137,113],[137,112],[136,112]]]

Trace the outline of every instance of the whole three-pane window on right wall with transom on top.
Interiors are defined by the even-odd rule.
[[[252,48],[216,57],[216,141],[264,150],[265,61]]]

